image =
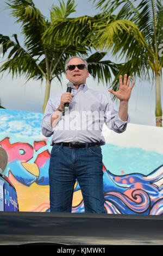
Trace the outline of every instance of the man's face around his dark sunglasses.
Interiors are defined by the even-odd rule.
[[[67,65],[78,65],[78,64],[85,64],[82,59],[79,58],[73,58],[68,62]],[[76,68],[72,71],[68,70],[66,71],[66,78],[70,82],[74,84],[74,86],[79,86],[80,84],[86,83],[86,78],[89,76],[89,71],[84,68],[83,70]]]

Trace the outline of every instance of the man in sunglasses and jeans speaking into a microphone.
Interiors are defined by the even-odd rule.
[[[71,57],[65,65],[66,78],[73,83],[71,93],[49,98],[42,119],[42,133],[52,136],[49,163],[50,205],[53,212],[71,212],[76,179],[82,190],[85,212],[105,213],[103,196],[103,164],[101,145],[105,144],[102,126],[121,133],[126,130],[128,101],[135,82],[120,76],[118,92],[109,90],[120,99],[118,111],[106,93],[89,89],[87,63]],[[65,103],[69,103],[65,111]],[[91,115],[93,113],[93,115]],[[70,143],[72,142],[72,143]]]

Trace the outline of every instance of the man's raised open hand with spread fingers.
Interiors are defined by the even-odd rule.
[[[131,77],[128,77],[127,75],[124,75],[124,80],[122,81],[122,76],[120,76],[120,88],[117,92],[114,90],[108,90],[110,93],[114,94],[120,101],[129,101],[131,90],[133,89],[135,85],[135,81],[130,86],[130,79]]]

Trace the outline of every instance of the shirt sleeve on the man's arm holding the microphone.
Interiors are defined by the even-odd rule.
[[[52,99],[49,98],[46,105],[45,113],[42,118],[42,123],[41,123],[42,134],[45,137],[51,137],[53,135],[53,128],[51,125],[51,116],[56,109],[57,107],[52,103]]]

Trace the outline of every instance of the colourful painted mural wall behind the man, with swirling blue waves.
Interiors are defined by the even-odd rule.
[[[51,137],[43,114],[0,109],[0,171],[17,191],[20,211],[49,211]],[[124,133],[103,127],[104,198],[108,214],[163,214],[163,129],[128,124]],[[84,212],[78,182],[72,212]]]

